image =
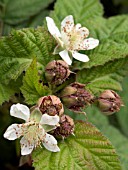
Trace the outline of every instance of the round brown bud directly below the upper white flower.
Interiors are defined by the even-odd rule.
[[[68,64],[62,60],[51,61],[45,68],[47,81],[55,85],[62,84],[70,73]]]

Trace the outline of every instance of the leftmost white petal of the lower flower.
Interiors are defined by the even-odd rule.
[[[4,133],[4,138],[8,140],[15,140],[22,135],[22,124],[12,124],[10,125],[6,132]]]

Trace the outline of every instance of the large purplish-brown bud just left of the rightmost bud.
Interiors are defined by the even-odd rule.
[[[91,103],[93,96],[85,89],[84,84],[72,83],[61,93],[63,103],[73,111],[81,111],[85,105]]]

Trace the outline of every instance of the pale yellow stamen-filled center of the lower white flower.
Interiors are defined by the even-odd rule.
[[[41,142],[45,136],[45,131],[39,123],[29,122],[23,126],[23,136],[35,147],[41,145]]]

